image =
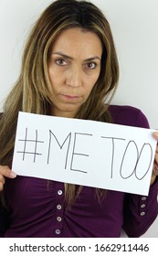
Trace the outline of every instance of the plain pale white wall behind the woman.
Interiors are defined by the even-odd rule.
[[[28,32],[51,2],[0,1],[0,111],[3,110],[5,96],[18,77]],[[158,1],[91,2],[107,16],[118,52],[121,77],[112,103],[141,109],[151,128],[158,128]],[[158,218],[143,237],[158,237]]]

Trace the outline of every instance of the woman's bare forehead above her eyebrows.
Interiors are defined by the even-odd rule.
[[[74,27],[68,28],[58,35],[51,51],[52,53],[62,51],[69,56],[81,54],[86,57],[93,55],[101,57],[102,44],[100,37],[94,32]]]

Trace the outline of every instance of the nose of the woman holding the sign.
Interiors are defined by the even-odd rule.
[[[66,81],[70,87],[80,87],[82,83],[82,72],[79,68],[74,67],[68,70],[68,77]]]

